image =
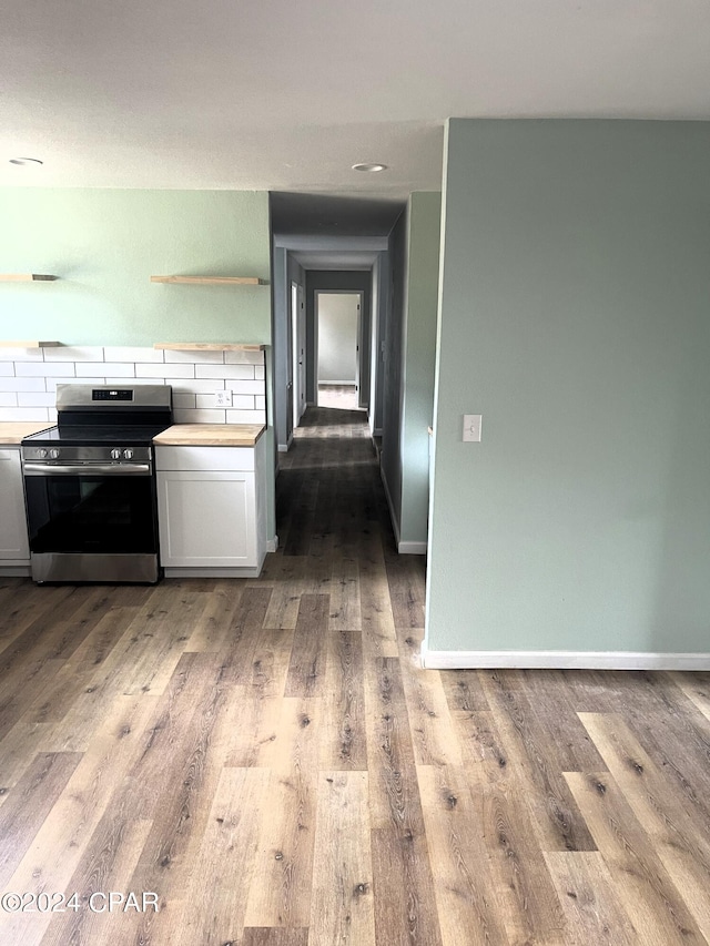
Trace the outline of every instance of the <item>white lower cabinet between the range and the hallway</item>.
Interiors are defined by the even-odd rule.
[[[264,439],[155,447],[165,576],[256,577],[266,553]]]

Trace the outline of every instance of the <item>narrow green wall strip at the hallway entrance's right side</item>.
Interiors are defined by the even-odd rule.
[[[429,502],[429,435],[434,416],[436,308],[442,195],[409,197],[407,315],[402,424],[403,542],[426,543]]]

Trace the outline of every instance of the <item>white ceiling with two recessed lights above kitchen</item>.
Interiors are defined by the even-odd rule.
[[[6,0],[1,21],[0,184],[402,200],[440,186],[449,115],[710,119],[708,0]]]

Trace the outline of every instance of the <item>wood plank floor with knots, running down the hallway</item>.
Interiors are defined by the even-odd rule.
[[[305,421],[260,580],[0,581],[0,891],[78,893],[0,944],[708,943],[710,675],[422,671],[363,415]]]

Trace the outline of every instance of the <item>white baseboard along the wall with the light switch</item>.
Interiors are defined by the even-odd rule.
[[[710,670],[710,653],[577,650],[429,650],[422,644],[427,670]]]

